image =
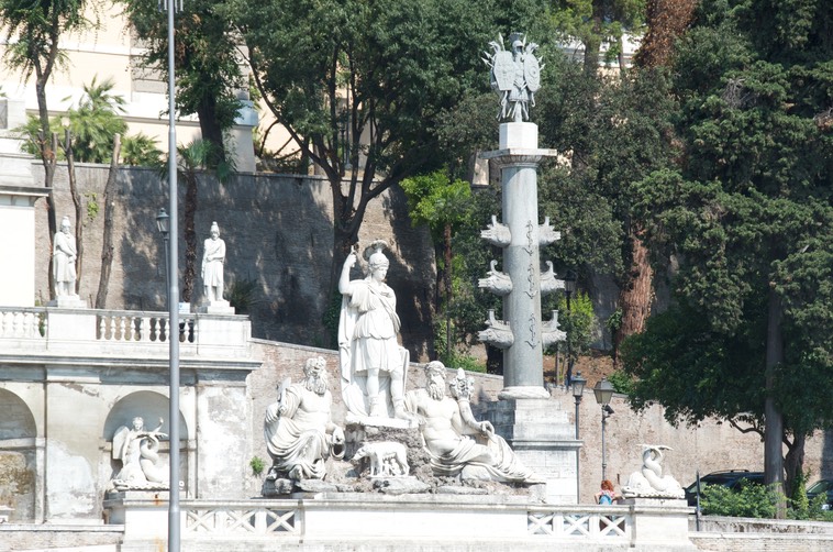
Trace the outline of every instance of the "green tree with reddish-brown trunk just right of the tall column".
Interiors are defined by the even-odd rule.
[[[649,265],[632,187],[673,165],[677,107],[662,68],[611,78],[563,57],[549,59],[552,88],[540,102],[541,133],[547,145],[570,156],[570,167],[542,178],[542,208],[564,231],[559,257],[579,272],[580,281],[591,273],[614,276],[624,321],[613,335],[615,353],[624,334],[642,329],[654,297],[651,273],[642,268]]]

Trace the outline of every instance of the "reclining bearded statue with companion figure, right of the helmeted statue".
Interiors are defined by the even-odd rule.
[[[488,421],[471,413],[474,382],[463,369],[445,394],[442,362],[425,365],[425,388],[408,391],[406,406],[420,422],[431,467],[436,476],[500,483],[541,483],[515,456]]]

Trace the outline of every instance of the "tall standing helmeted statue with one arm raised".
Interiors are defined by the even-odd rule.
[[[351,251],[338,279],[343,296],[338,353],[348,420],[409,418],[403,402],[409,355],[397,342],[400,328],[397,298],[385,284],[390,265],[382,253],[387,246],[377,240],[365,250],[367,277],[354,280],[349,279],[349,272],[358,258]]]

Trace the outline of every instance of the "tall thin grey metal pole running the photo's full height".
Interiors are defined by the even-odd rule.
[[[176,0],[167,0],[168,9],[168,194],[170,212],[170,277],[168,280],[168,344],[170,345],[170,492],[168,499],[168,552],[179,552],[179,208],[177,196],[177,131],[175,120],[174,12]]]

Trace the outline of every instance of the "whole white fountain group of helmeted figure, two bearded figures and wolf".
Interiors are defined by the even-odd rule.
[[[364,439],[345,442],[345,431],[333,422],[325,361],[309,358],[303,380],[285,380],[266,410],[264,437],[273,461],[267,479],[323,479],[327,461],[344,459],[352,446],[349,465],[357,476],[366,472],[370,477],[409,477],[422,462],[436,477],[540,483],[491,423],[475,419],[469,402],[474,384],[463,371],[447,383],[443,363],[430,362],[424,386],[406,390],[409,356],[397,341],[400,322],[396,295],[385,283],[390,265],[386,247],[375,241],[365,250],[367,275],[362,279],[351,279],[358,262],[351,252],[338,283],[338,373],[346,433]],[[375,431],[364,431],[367,428]],[[409,450],[414,442],[409,432],[419,435],[419,451]],[[369,439],[370,434],[384,438]]]

